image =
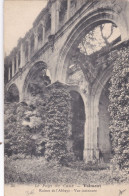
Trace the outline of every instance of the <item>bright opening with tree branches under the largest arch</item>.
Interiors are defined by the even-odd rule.
[[[119,28],[111,22],[105,22],[92,28],[80,41],[78,48],[84,55],[105,51],[121,40]]]

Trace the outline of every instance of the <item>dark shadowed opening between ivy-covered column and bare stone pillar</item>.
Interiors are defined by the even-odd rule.
[[[76,91],[70,92],[72,97],[72,143],[75,157],[83,160],[85,110],[81,95]]]

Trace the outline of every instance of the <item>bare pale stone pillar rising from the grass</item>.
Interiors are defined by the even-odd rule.
[[[99,159],[98,128],[99,128],[99,99],[95,95],[87,98],[86,104],[86,126],[84,139],[84,161]]]

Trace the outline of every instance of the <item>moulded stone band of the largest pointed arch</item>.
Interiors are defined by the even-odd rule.
[[[72,54],[73,48],[76,48],[77,44],[80,41],[80,38],[84,37],[95,26],[102,23],[114,23],[118,26],[121,32],[120,16],[117,12],[114,12],[112,9],[100,9],[90,13],[87,16],[84,16],[78,24],[71,30],[63,48],[60,50],[58,58],[58,66],[56,70],[56,78],[62,82],[66,82],[66,70],[68,64],[68,56]],[[125,24],[122,24],[123,28]],[[121,32],[122,38],[122,32]],[[124,39],[124,38],[122,38]]]

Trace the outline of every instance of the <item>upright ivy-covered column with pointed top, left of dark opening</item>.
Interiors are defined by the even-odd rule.
[[[49,87],[46,104],[47,160],[63,162],[67,153],[67,140],[71,132],[71,96],[67,87],[55,83]]]

